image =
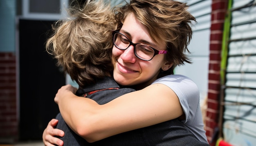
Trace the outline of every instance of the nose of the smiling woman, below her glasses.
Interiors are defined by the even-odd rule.
[[[130,45],[127,49],[124,50],[120,57],[124,62],[134,63],[136,61],[134,46]]]

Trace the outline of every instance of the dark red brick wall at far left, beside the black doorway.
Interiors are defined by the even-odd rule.
[[[18,137],[16,106],[16,56],[0,53],[0,144]]]

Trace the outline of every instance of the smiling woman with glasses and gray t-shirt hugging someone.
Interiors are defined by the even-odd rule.
[[[175,66],[191,63],[185,52],[192,36],[189,25],[195,19],[186,9],[186,4],[173,0],[130,0],[116,9],[119,24],[113,32],[113,77],[137,91],[99,105],[75,96],[74,87],[63,86],[54,100],[75,133],[95,142],[142,128],[155,133],[145,141],[163,142],[166,139],[157,135],[170,136],[175,119],[207,143],[198,88],[188,77],[173,75]],[[63,136],[58,129],[50,129],[55,124],[48,125],[48,136]],[[58,142],[52,137],[48,140]]]

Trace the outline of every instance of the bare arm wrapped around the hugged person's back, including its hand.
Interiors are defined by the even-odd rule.
[[[88,142],[142,128],[183,114],[177,95],[163,84],[152,84],[140,91],[99,105],[78,97],[66,85],[55,97],[65,122]]]

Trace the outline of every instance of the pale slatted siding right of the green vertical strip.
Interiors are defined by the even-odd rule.
[[[224,97],[223,136],[234,146],[256,144],[256,7],[233,0]]]

